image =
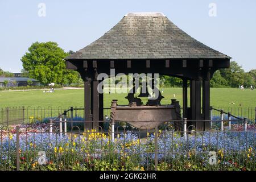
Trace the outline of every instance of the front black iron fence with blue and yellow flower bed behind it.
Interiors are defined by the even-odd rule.
[[[63,131],[61,122],[43,128],[2,126],[0,169],[255,170],[255,129],[196,131],[183,119],[176,122],[182,122],[184,131],[175,131],[173,122],[152,130],[127,130],[117,121],[99,121],[101,126],[112,124],[111,131],[101,126],[90,131],[73,126]]]

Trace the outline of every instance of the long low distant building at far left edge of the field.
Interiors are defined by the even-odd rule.
[[[5,85],[3,82],[7,80],[8,84]],[[7,86],[27,86],[28,85],[28,80],[32,81],[32,85],[40,85],[40,82],[38,80],[35,80],[33,78],[26,78],[26,77],[0,77],[0,87]]]

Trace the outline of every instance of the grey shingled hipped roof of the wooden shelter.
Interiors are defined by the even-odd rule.
[[[162,13],[128,13],[69,59],[230,59],[193,39]]]

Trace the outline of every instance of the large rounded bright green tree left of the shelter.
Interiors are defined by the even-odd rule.
[[[55,42],[33,43],[22,57],[24,72],[42,84],[50,82],[66,85],[77,82],[75,71],[65,68],[65,60],[69,53],[58,47]]]

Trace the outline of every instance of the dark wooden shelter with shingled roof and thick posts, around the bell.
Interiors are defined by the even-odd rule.
[[[199,120],[195,124],[199,131],[209,128],[209,122],[200,120],[210,117],[210,78],[230,63],[229,56],[193,39],[162,13],[128,13],[100,39],[65,60],[67,69],[78,71],[84,80],[85,121],[92,121],[93,126],[104,119],[97,76],[110,75],[114,68],[116,74],[159,73],[182,78],[183,117]]]

